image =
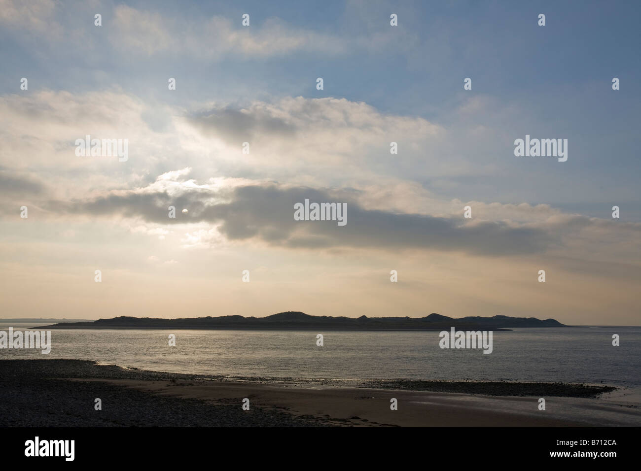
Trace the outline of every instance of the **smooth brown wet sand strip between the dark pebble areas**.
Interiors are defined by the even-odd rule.
[[[99,380],[103,381],[103,380]],[[213,404],[241,408],[248,398],[250,407],[275,408],[294,415],[324,418],[332,425],[450,427],[450,426],[582,426],[583,422],[529,417],[513,411],[505,412],[482,403],[470,404],[467,395],[394,391],[367,388],[309,388],[228,381],[166,381],[109,380],[135,390],[164,397],[201,399]],[[397,399],[397,410],[390,409],[390,399]],[[537,409],[532,398],[502,398],[519,402],[520,408]],[[482,400],[481,400],[482,401]]]

